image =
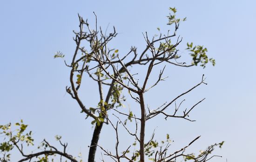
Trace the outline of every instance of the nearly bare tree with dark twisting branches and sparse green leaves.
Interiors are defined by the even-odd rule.
[[[187,146],[182,147],[182,149],[177,150],[174,153],[168,153],[168,147],[170,146],[168,134],[166,141],[156,141],[153,134],[150,140],[145,142],[145,127],[148,120],[153,120],[154,117],[163,115],[165,119],[183,118],[189,121],[195,121],[189,118],[189,112],[204,100],[202,99],[196,102],[195,105],[191,106],[189,109],[185,109],[181,114],[179,112],[179,108],[184,100],[180,102],[179,106],[176,106],[176,101],[185,94],[191,92],[196,87],[207,84],[204,81],[204,75],[202,75],[202,78],[200,78],[200,81],[194,87],[191,87],[186,92],[181,93],[170,102],[164,103],[162,106],[159,106],[154,110],[150,110],[146,107],[144,94],[149,89],[155,87],[160,81],[165,80],[166,77],[162,77],[162,75],[166,65],[180,67],[200,65],[203,68],[205,68],[208,62],[215,65],[214,59],[208,59],[208,56],[206,55],[207,49],[201,45],[193,45],[193,43],[188,43],[186,49],[192,57],[192,63],[188,65],[185,62],[179,62],[181,56],[178,55],[179,50],[177,47],[182,42],[182,38],[180,38],[180,36],[176,37],[176,31],[178,30],[180,23],[185,21],[186,18],[176,18],[176,8],[169,8],[169,10],[171,13],[168,15],[167,25],[174,26],[173,32],[170,34],[168,31],[166,35],[161,33],[160,36],[154,36],[152,40],[148,38],[148,33],[146,32],[143,34],[146,41],[145,50],[139,54],[136,47],[131,47],[128,53],[123,56],[119,55],[118,49],[108,47],[109,41],[117,36],[115,27],[113,27],[112,33],[106,34],[101,27],[98,29],[96,15],[95,29],[92,29],[89,26],[87,20],[84,20],[79,16],[79,31],[74,31],[76,47],[73,59],[70,64],[65,61],[66,66],[70,68],[70,87],[67,86],[66,91],[74,100],[77,101],[81,108],[81,113],[85,113],[87,116],[86,118],[93,118],[92,124],[94,125],[94,133],[88,153],[88,162],[94,162],[97,147],[99,147],[105,155],[110,156],[116,162],[120,162],[122,159],[126,159],[129,162],[135,162],[138,160],[140,162],[145,162],[145,156],[148,156],[148,158],[154,162],[176,162],[179,157],[183,157],[185,161],[194,160],[195,162],[205,162],[214,157],[208,156],[215,146],[222,146],[223,142],[215,143],[209,146],[205,151],[202,151],[199,155],[195,156],[195,154],[185,154],[185,149],[194,143],[200,136],[196,137]],[[160,31],[159,28],[157,29]],[[175,39],[175,41],[171,39]],[[85,42],[85,45],[83,42]],[[57,57],[63,58],[64,55],[61,52],[57,52],[54,58]],[[164,63],[167,64],[162,70],[160,70],[155,83],[148,86],[148,80],[151,76],[152,69],[155,66],[159,66]],[[131,69],[129,69],[134,65],[147,66],[146,75],[142,81],[138,81],[135,78],[140,71],[135,74]],[[99,90],[100,100],[96,107],[87,107],[79,95],[79,90],[85,75],[88,75],[88,78],[91,78],[93,81],[98,83],[97,89]],[[104,95],[103,90],[106,89],[106,87],[108,88],[108,91]],[[124,90],[127,90],[128,95],[138,103],[138,109],[140,110],[139,118],[137,117],[138,115],[135,115],[132,111],[129,111],[127,114],[118,108],[122,107],[123,101],[126,100],[123,95]],[[106,97],[104,98],[104,96]],[[174,113],[169,114],[166,110],[171,105],[175,105],[175,110]],[[110,117],[112,115],[108,113],[109,111],[119,114],[113,114],[115,120],[117,120],[116,123],[114,123],[114,119]],[[121,116],[125,116],[127,119],[123,121]],[[135,132],[130,131],[126,126],[128,120],[135,123]],[[101,129],[104,124],[112,125],[115,131],[115,154],[109,152],[98,143]],[[16,132],[12,131],[10,123],[7,125],[0,125],[0,129],[2,130],[0,133],[5,137],[4,141],[0,144],[0,150],[2,153],[2,157],[0,159],[1,162],[10,161],[11,154],[9,152],[13,150],[13,148],[18,149],[20,154],[24,156],[24,158],[19,162],[27,160],[31,161],[33,158],[38,158],[38,162],[47,162],[49,160],[49,156],[55,155],[59,155],[60,160],[62,157],[65,157],[72,162],[77,162],[75,157],[67,154],[67,143],[62,143],[60,136],[56,136],[56,140],[60,141],[63,151],[52,146],[44,139],[38,147],[38,149],[43,149],[42,151],[25,154],[23,151],[23,143],[26,142],[27,146],[33,145],[34,139],[31,137],[32,132],[29,131],[28,133],[25,133],[27,125],[23,124],[22,120],[15,125],[18,127]],[[132,143],[131,145],[134,145],[137,150],[133,153],[130,153],[131,145],[125,151],[120,152],[118,148],[120,142],[118,125],[123,126],[129,135],[135,137],[135,143]],[[137,132],[138,130],[139,133]],[[138,148],[136,148],[136,143],[139,145]],[[102,161],[104,161],[103,157]]]

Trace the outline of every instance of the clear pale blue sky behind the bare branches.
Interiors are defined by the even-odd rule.
[[[202,74],[208,85],[185,96],[184,106],[204,97],[206,100],[190,115],[196,122],[159,117],[148,122],[146,138],[154,129],[159,140],[168,133],[175,141],[171,150],[175,150],[201,135],[188,153],[225,141],[215,152],[222,158],[212,162],[252,161],[256,144],[255,6],[254,0],[1,0],[0,125],[23,119],[34,132],[35,143],[46,138],[58,144],[54,136],[61,135],[69,143],[68,151],[74,156],[81,152],[86,161],[93,132],[91,119],[85,120],[78,104],[65,92],[69,69],[63,60],[54,59],[54,53],[63,52],[70,62],[75,49],[72,31],[78,30],[77,14],[93,26],[93,12],[99,26],[106,29],[109,25],[109,31],[115,26],[119,33],[111,44],[113,48],[123,54],[131,46],[142,51],[146,46],[142,32],[152,37],[159,33],[159,27],[167,33],[168,7],[176,7],[178,17],[187,17],[177,32],[183,38],[181,58],[189,60],[184,49],[187,42],[193,42],[208,48],[216,66],[202,69],[168,65],[168,79],[145,95],[150,107],[170,101],[196,85]],[[81,95],[87,106],[97,105],[97,92],[95,83],[87,82],[83,87]],[[131,109],[138,106],[128,101]],[[125,131],[120,133],[121,139],[128,137]],[[121,148],[125,150],[133,140],[125,140]],[[99,143],[109,150],[115,147],[111,126],[103,126]],[[13,160],[18,160],[18,154],[13,155]],[[95,160],[100,162],[99,149]]]

